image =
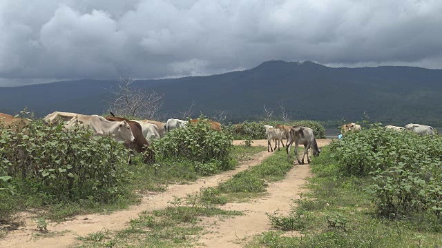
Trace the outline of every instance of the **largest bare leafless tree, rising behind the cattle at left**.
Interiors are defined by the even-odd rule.
[[[108,89],[108,110],[118,116],[153,119],[163,104],[163,94],[135,87],[134,81],[119,78],[117,84]]]

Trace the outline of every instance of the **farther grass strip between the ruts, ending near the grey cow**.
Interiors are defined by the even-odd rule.
[[[292,161],[287,162],[287,154],[282,149],[260,165],[234,175],[218,187],[204,189],[202,200],[206,203],[225,204],[262,196],[266,192],[267,182],[282,180],[293,165]]]

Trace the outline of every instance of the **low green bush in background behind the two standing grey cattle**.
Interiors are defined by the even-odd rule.
[[[264,125],[272,125],[273,127],[282,124],[282,125],[301,125],[304,127],[310,127],[315,135],[315,138],[325,138],[325,129],[323,125],[321,125],[318,121],[291,121],[291,122],[282,122],[282,121],[259,121],[259,122],[249,122],[244,121],[243,123],[239,123],[237,125],[229,125],[223,127],[226,132],[230,132],[234,138],[236,139],[265,139],[265,129]]]

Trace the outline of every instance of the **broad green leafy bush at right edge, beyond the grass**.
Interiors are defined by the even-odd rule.
[[[346,134],[330,145],[348,176],[372,175],[367,187],[378,213],[397,218],[415,211],[442,210],[442,138],[372,128]]]

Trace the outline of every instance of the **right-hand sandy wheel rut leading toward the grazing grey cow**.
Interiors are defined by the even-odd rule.
[[[215,218],[207,219],[209,227],[206,231],[209,233],[200,239],[201,247],[242,247],[244,240],[268,231],[271,226],[265,213],[279,210],[280,214],[288,214],[293,200],[299,199],[300,194],[305,191],[303,185],[310,175],[309,165],[296,165],[284,180],[269,185],[265,198],[250,203],[230,203],[222,207],[243,211],[244,216],[217,221],[216,225],[210,224],[216,221]],[[299,235],[298,232],[292,234]]]

